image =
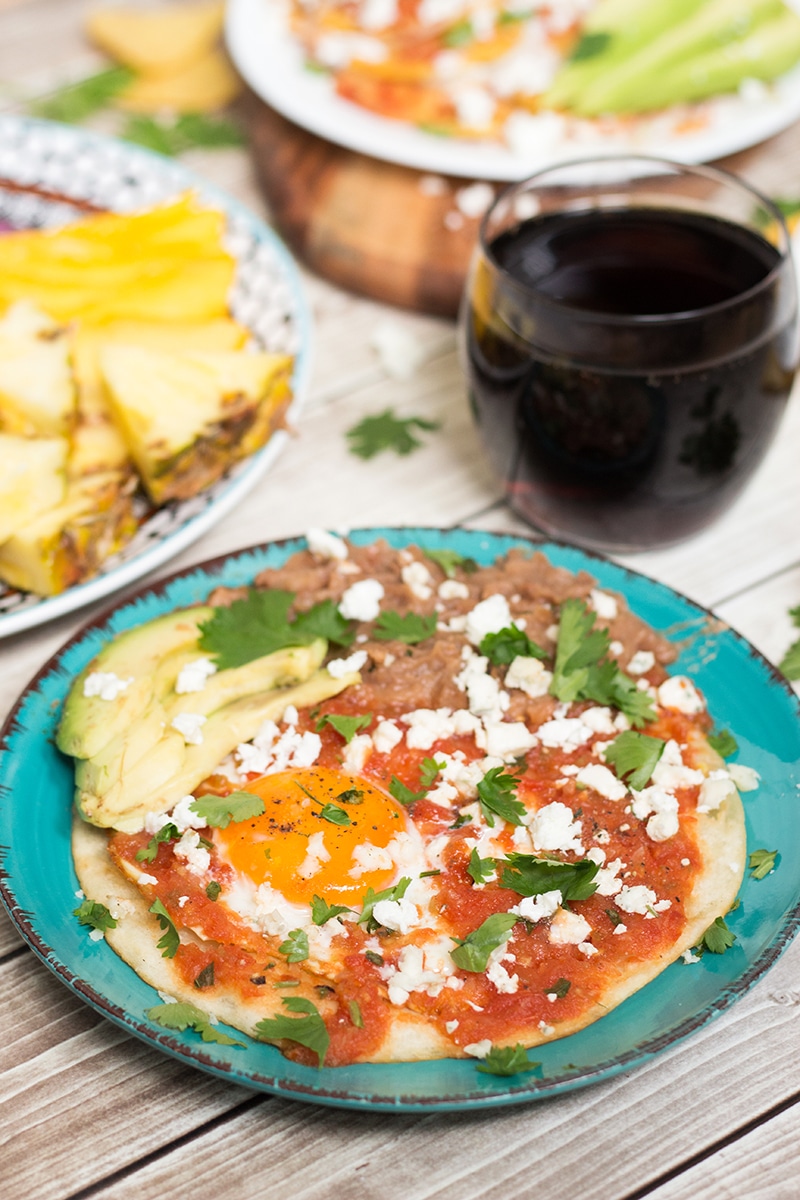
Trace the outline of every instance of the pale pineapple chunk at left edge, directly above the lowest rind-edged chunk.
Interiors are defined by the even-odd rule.
[[[64,499],[66,438],[0,433],[0,544]]]

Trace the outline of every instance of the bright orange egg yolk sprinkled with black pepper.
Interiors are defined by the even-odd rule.
[[[261,775],[243,791],[264,800],[264,812],[215,829],[215,839],[253,883],[270,883],[295,904],[319,895],[348,906],[392,883],[397,866],[386,847],[405,830],[405,815],[373,784],[309,767]]]

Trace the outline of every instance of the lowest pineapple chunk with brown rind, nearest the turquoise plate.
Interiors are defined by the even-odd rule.
[[[56,595],[95,575],[136,533],[133,475],[97,473],[71,484],[65,499],[0,545],[0,578],[38,595]]]

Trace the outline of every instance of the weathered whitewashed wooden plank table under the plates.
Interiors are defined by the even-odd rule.
[[[0,2],[0,82],[90,68],[82,2]],[[245,151],[192,166],[255,209]],[[800,193],[800,131],[734,162]],[[173,568],[312,524],[463,524],[513,532],[471,427],[451,324],[306,277],[315,370],[296,437],[240,508]],[[423,348],[410,379],[371,346],[391,319]],[[395,407],[443,422],[408,458],[354,458],[345,431]],[[800,397],[768,461],[711,530],[626,559],[712,607],[769,658],[800,604]],[[89,613],[0,643],[0,718]],[[800,1194],[800,944],[740,1002],[646,1066],[558,1099],[492,1114],[351,1112],[233,1086],[162,1056],[80,1003],[0,914],[0,1192],[5,1200],[337,1196],[582,1200]]]

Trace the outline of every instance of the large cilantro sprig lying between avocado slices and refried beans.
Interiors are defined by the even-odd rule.
[[[331,600],[289,620],[293,602],[293,592],[251,588],[246,599],[213,610],[200,625],[198,644],[213,658],[219,670],[227,670],[289,646],[308,646],[318,637],[341,646],[353,641],[350,623]]]

